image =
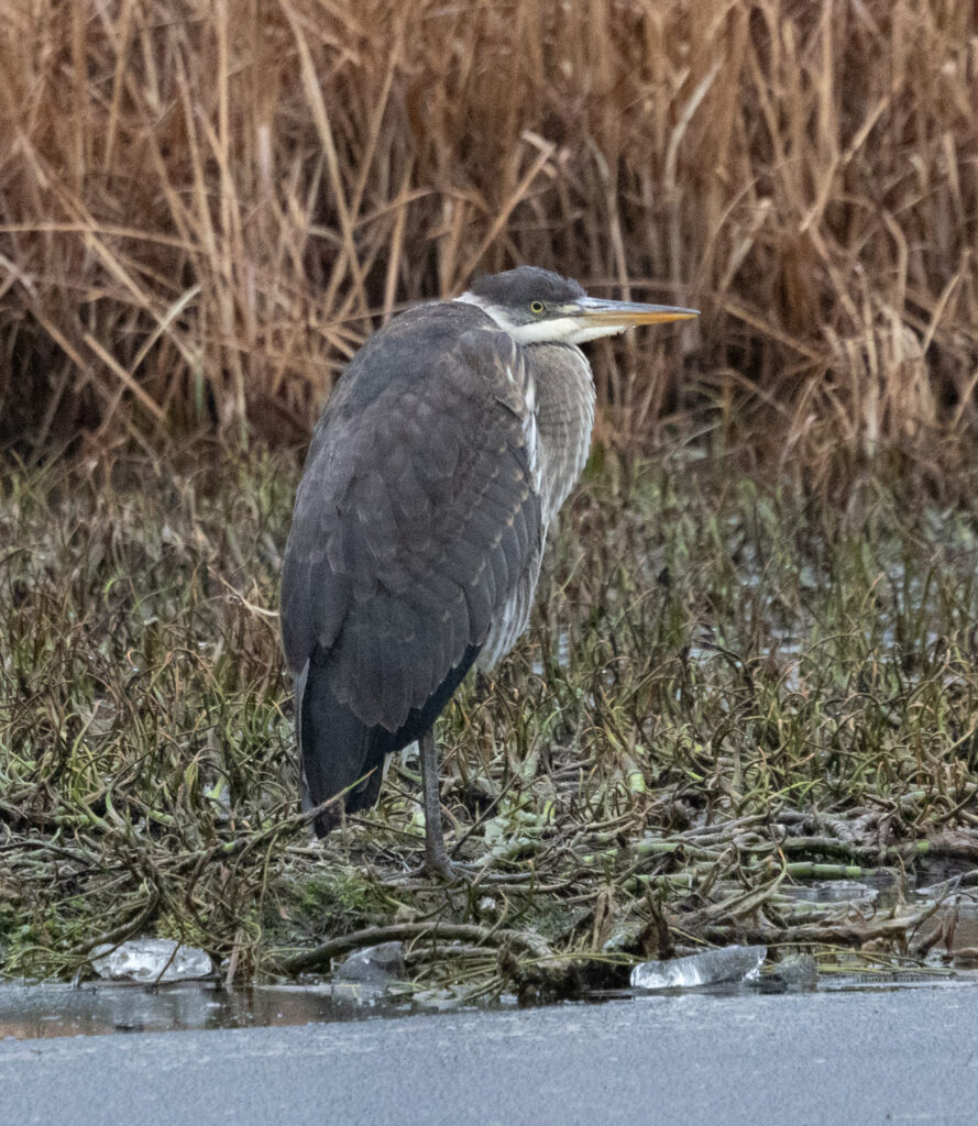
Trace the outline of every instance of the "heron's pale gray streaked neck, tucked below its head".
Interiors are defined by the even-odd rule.
[[[549,524],[587,462],[594,379],[587,357],[576,345],[528,345],[526,351],[540,436],[543,516]]]

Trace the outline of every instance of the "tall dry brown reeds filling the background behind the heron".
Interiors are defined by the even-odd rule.
[[[976,421],[973,0],[14,0],[0,440],[296,440],[402,303],[517,261],[693,304],[603,434]]]

